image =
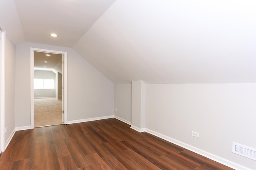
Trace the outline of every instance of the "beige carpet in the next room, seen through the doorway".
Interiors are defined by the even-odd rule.
[[[34,99],[35,127],[62,124],[62,101],[56,98]]]

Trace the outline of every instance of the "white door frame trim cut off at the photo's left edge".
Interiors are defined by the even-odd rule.
[[[0,27],[0,34],[1,34],[1,54],[0,54],[0,152],[4,152],[5,146],[5,133],[4,133],[4,127],[5,127],[5,121],[4,121],[4,98],[5,98],[5,31]]]

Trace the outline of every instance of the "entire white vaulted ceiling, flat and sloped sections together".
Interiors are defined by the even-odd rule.
[[[115,83],[256,83],[255,9],[254,0],[0,0],[0,24],[16,44],[72,47]]]

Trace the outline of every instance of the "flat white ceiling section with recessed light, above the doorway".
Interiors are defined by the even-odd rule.
[[[115,0],[14,1],[26,41],[72,47]]]

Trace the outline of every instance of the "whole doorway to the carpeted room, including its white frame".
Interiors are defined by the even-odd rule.
[[[34,127],[66,124],[66,58],[66,52],[31,48],[32,129]]]

